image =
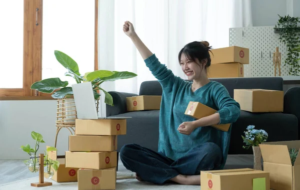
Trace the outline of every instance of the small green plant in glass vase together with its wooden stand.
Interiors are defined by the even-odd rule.
[[[45,151],[45,156],[44,154],[39,154],[39,157],[37,157],[36,153],[39,149],[39,143],[45,142],[43,141],[42,135],[34,131],[31,132],[31,137],[35,140],[34,148],[31,148],[29,144],[20,147],[21,150],[30,156],[28,160],[23,161],[23,163],[28,166],[28,170],[32,173],[39,172],[39,183],[31,184],[31,186],[50,186],[52,183],[43,183],[43,178],[46,177],[47,179],[50,179],[53,176],[53,170],[57,171],[59,162],[48,158],[47,153],[48,151],[57,151],[57,149],[54,147],[48,147]]]

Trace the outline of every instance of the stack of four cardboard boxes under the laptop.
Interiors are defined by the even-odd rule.
[[[117,135],[126,134],[126,119],[76,119],[75,125],[65,167],[78,169],[78,190],[115,190]]]

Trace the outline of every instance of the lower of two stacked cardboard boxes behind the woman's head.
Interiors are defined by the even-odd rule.
[[[243,77],[243,64],[220,63],[211,64],[207,69],[208,78],[236,78]]]

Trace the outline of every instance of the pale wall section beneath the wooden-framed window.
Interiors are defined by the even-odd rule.
[[[40,144],[38,153],[45,146],[54,146],[56,133],[56,101],[0,101],[0,159],[27,159],[29,155],[20,150],[21,145],[34,146],[31,131],[40,133],[45,143]],[[67,129],[58,135],[58,154],[68,150]]]

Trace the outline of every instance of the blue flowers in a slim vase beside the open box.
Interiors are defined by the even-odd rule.
[[[253,159],[254,159],[254,170],[262,170],[261,166],[261,152],[259,144],[266,142],[268,134],[260,129],[254,129],[254,125],[247,126],[247,131],[244,132],[245,136],[241,136],[243,142],[246,146],[242,146],[244,149],[249,149],[252,147],[253,150]]]

